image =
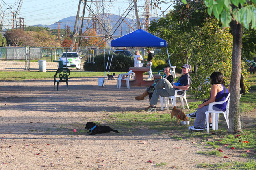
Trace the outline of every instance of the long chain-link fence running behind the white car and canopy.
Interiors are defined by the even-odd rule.
[[[128,50],[134,58],[135,51],[139,50],[143,58],[147,58],[147,48],[111,48],[114,50]],[[94,62],[94,56],[105,54],[108,57],[110,48],[73,48],[78,52],[81,59],[81,70],[84,62]],[[161,53],[160,48],[153,49],[154,54]],[[70,48],[34,48],[34,47],[1,47],[0,48],[0,71],[39,71],[39,60],[46,61],[46,71],[56,71],[58,69],[59,57],[63,52],[69,52]],[[111,57],[111,56],[110,56]],[[106,66],[104,66],[106,67]],[[70,69],[70,71],[76,68]]]

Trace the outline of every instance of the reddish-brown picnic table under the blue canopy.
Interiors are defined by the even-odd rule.
[[[132,72],[135,73],[135,79],[130,80],[130,86],[152,86],[152,84],[155,82],[155,79],[161,79],[161,76],[156,74],[154,75],[154,80],[144,80],[143,73],[149,71],[150,69],[147,67],[130,67],[129,71],[132,70]],[[121,86],[126,86],[126,82],[124,80],[121,81]]]

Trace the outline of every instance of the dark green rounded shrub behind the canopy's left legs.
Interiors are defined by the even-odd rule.
[[[96,55],[94,57],[95,64],[85,61],[83,64],[83,69],[85,71],[105,71],[107,62],[108,62],[108,68],[109,68],[109,64],[111,62],[111,56],[112,54],[110,54],[109,62],[108,62],[108,54],[106,54],[105,57],[104,57],[104,54]],[[105,58],[105,66],[104,66],[104,58]],[[133,67],[133,66],[134,66],[134,58],[124,56],[123,54],[117,54],[117,55],[114,54],[111,62],[110,71],[126,72],[129,70],[129,67]]]

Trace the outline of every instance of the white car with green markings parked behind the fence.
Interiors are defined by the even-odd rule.
[[[81,69],[81,58],[77,52],[63,52],[59,58],[59,61],[63,61],[63,67]],[[66,62],[67,59],[67,62]],[[59,68],[59,63],[58,63]]]

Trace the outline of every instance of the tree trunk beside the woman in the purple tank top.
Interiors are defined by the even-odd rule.
[[[241,132],[240,120],[240,77],[243,25],[230,22],[233,34],[232,73],[230,82],[229,129],[228,132]]]

